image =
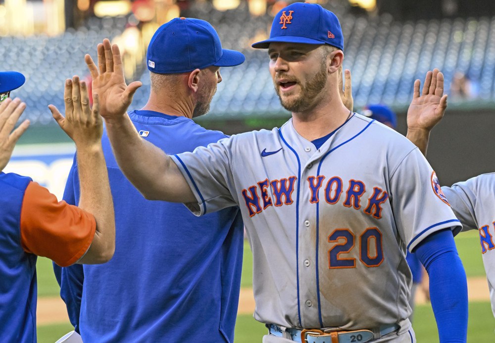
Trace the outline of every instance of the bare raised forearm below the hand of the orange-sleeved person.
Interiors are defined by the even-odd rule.
[[[115,251],[115,217],[101,141],[76,145],[81,196],[79,207],[95,217],[96,232],[78,263],[103,263]]]

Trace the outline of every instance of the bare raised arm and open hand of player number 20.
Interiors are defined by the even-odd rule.
[[[93,78],[93,92],[100,95],[100,114],[115,159],[124,175],[148,200],[196,201],[172,159],[142,139],[126,113],[141,82],[126,85],[118,46],[105,39],[98,45],[98,67],[89,55],[85,60]]]

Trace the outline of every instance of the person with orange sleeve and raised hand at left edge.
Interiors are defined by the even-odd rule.
[[[0,73],[0,93],[6,94],[0,105],[0,342],[36,342],[37,256],[61,266],[95,264],[108,261],[115,248],[98,96],[92,111],[87,87],[79,84],[77,76],[65,84],[66,117],[54,106],[49,108],[76,143],[80,208],[58,202],[48,189],[27,176],[1,172],[29,125],[25,120],[13,130],[26,105],[8,98],[24,80],[20,73]]]

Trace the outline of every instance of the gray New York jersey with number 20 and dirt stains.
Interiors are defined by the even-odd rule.
[[[410,314],[406,248],[436,230],[460,230],[419,150],[359,114],[319,149],[291,119],[173,159],[196,195],[198,203],[186,204],[195,214],[240,206],[253,253],[254,317],[263,323],[399,323]]]

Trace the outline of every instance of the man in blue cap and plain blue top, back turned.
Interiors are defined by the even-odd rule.
[[[239,208],[196,218],[182,204],[149,201],[136,190],[118,169],[108,140],[114,139],[107,113],[115,108],[104,105],[113,96],[110,85],[125,89],[118,47],[104,40],[98,59],[100,70],[86,57],[106,123],[103,149],[117,249],[102,268],[54,266],[70,320],[84,342],[232,343],[244,245]],[[126,116],[133,132],[172,154],[227,137],[192,119],[208,112],[222,81],[220,67],[244,60],[240,52],[222,49],[206,21],[175,18],[160,26],[148,46],[148,102]],[[130,84],[126,94],[140,85]],[[161,161],[148,161],[150,168],[155,163]],[[64,193],[73,204],[79,198],[78,164],[74,161]]]

